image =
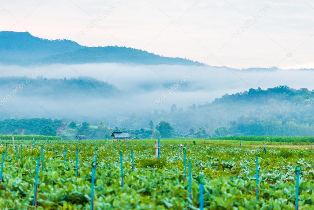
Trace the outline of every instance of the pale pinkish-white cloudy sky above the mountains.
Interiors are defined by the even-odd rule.
[[[313,20],[310,0],[0,2],[1,30],[85,46],[133,47],[240,69],[314,68]],[[95,27],[86,30],[92,22]],[[241,35],[232,36],[241,28]],[[86,33],[78,36],[81,31]]]

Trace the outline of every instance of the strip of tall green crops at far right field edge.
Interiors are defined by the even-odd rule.
[[[258,135],[246,135],[246,136],[224,136],[210,138],[215,140],[238,140],[238,141],[273,141],[273,142],[313,142],[313,136],[258,136]]]

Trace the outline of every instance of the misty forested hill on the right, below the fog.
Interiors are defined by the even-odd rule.
[[[174,106],[174,105],[173,105]],[[155,117],[155,118],[154,118]],[[177,132],[191,135],[314,135],[314,91],[278,86],[224,95],[212,103],[186,109],[155,110],[154,122],[165,120]],[[227,132],[219,133],[221,127]],[[221,128],[222,129],[222,128]],[[216,131],[216,132],[215,132]],[[194,133],[195,132],[195,133]]]

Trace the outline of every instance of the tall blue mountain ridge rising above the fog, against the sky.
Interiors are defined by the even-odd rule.
[[[6,65],[135,63],[203,65],[185,58],[169,58],[130,47],[86,47],[67,39],[48,40],[29,32],[0,32],[0,63]]]

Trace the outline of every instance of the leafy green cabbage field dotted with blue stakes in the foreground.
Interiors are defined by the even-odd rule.
[[[0,209],[314,209],[309,144],[155,141],[1,140]]]

